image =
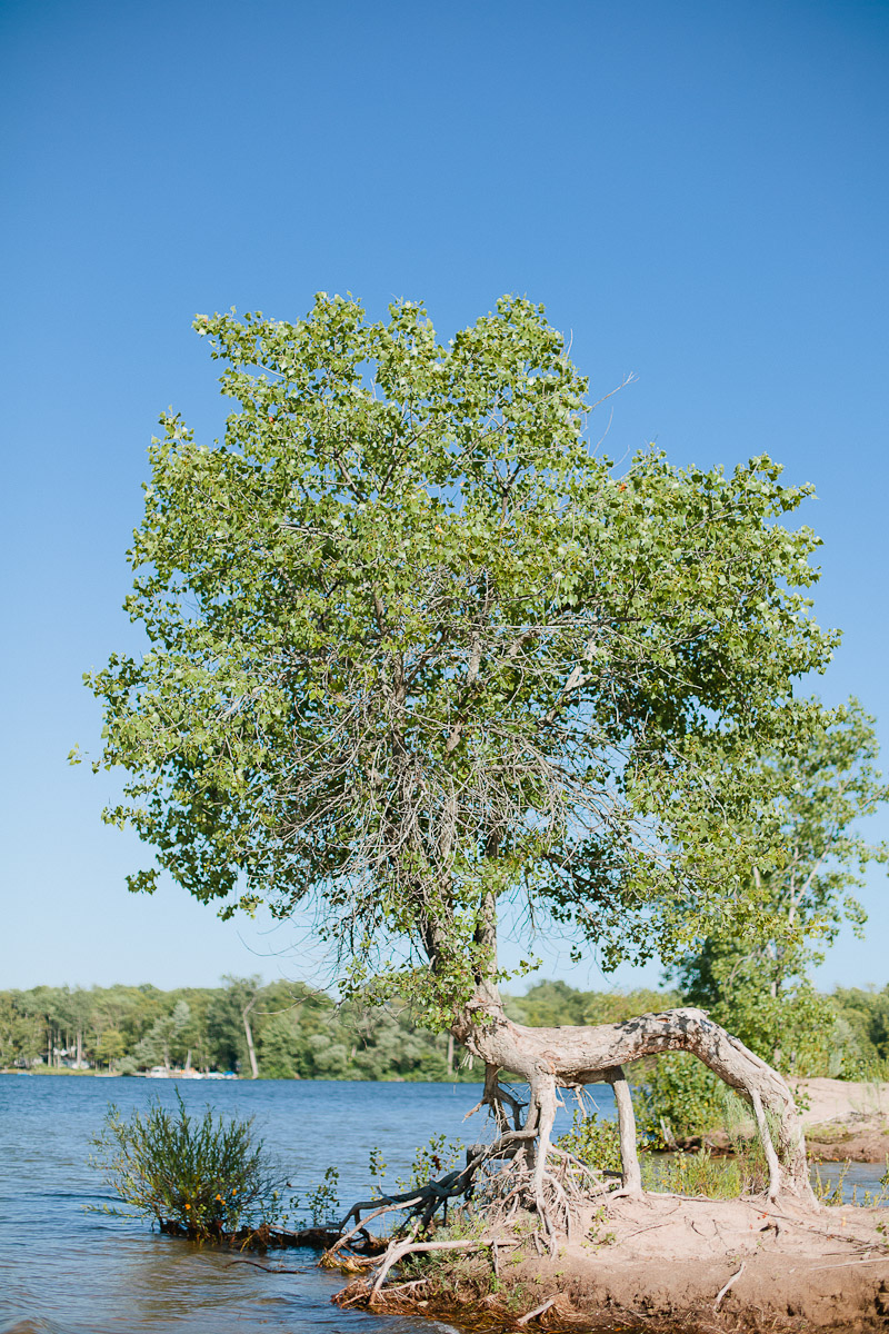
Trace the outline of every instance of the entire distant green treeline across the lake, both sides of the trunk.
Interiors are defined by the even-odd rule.
[[[225,978],[220,987],[32,987],[0,991],[0,1066],[29,1070],[235,1070],[267,1079],[478,1079],[472,1058],[446,1034],[419,1029],[405,1006],[337,1005],[304,983],[260,986]],[[840,987],[833,1027],[805,1074],[861,1078],[889,1062],[889,986]],[[506,998],[516,1022],[533,1027],[613,1023],[681,1005],[677,991],[576,991],[541,982]],[[885,1077],[885,1075],[884,1075]]]

